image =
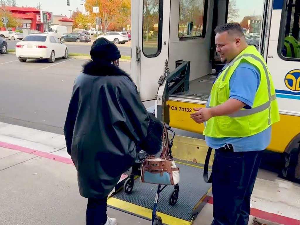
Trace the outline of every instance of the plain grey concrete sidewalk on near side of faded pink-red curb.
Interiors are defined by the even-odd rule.
[[[47,158],[0,148],[1,225],[82,225],[87,199],[81,197],[76,169]],[[107,208],[120,225],[149,221]]]

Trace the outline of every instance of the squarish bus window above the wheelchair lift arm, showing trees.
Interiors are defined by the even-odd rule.
[[[178,37],[180,41],[186,38],[204,37],[206,29],[205,0],[180,0]]]

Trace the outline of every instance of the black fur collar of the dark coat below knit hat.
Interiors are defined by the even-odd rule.
[[[131,77],[124,70],[111,64],[110,61],[97,60],[88,61],[83,66],[82,72],[92,76],[127,76],[131,81]]]

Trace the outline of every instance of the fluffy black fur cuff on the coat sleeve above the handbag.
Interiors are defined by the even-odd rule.
[[[149,115],[150,121],[147,130],[146,139],[140,144],[140,147],[149,155],[156,155],[163,145],[163,124],[154,116]]]

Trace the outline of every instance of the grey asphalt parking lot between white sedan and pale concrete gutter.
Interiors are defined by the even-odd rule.
[[[73,82],[86,61],[21,63],[16,55],[0,55],[0,121],[62,134]],[[120,67],[130,73],[130,63],[120,62]]]

